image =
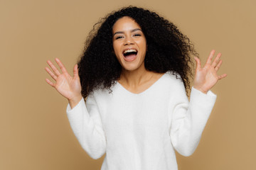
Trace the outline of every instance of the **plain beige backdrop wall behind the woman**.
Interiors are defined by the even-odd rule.
[[[204,63],[223,53],[215,108],[180,170],[256,169],[256,3],[245,1],[0,0],[0,169],[100,169],[73,135],[68,101],[46,84],[46,60],[59,57],[72,73],[87,34],[105,14],[129,4],[176,23]]]

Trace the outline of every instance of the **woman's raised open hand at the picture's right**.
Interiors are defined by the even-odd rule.
[[[202,91],[204,94],[207,93],[220,79],[227,77],[227,74],[222,74],[218,76],[217,72],[220,69],[222,60],[220,60],[221,53],[213,60],[213,55],[215,50],[210,52],[210,55],[206,61],[206,64],[201,68],[201,61],[198,57],[195,57],[196,60],[196,74],[193,82],[193,87]],[[211,63],[213,60],[213,63]]]

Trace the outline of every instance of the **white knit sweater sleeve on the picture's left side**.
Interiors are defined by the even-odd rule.
[[[70,126],[85,152],[92,159],[102,157],[106,151],[106,138],[94,98],[88,96],[86,104],[82,98],[72,109],[68,104],[67,115]]]

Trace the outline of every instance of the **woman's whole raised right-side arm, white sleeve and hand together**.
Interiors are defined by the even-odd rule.
[[[196,74],[190,102],[188,103],[186,98],[183,84],[179,84],[177,87],[178,94],[176,94],[179,99],[174,106],[171,106],[173,108],[171,110],[171,142],[174,148],[184,156],[189,156],[195,151],[213,109],[216,96],[210,89],[220,79],[227,77],[227,74],[218,76],[217,72],[222,64],[221,53],[218,53],[213,60],[214,53],[215,50],[210,52],[203,68],[201,68],[201,61],[195,57]]]

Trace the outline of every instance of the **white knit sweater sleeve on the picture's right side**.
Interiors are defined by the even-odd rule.
[[[177,93],[181,94],[177,102],[170,105],[171,143],[179,154],[188,157],[198,146],[216,96],[211,91],[203,94],[192,87],[190,102],[188,102],[183,85],[178,87]]]

